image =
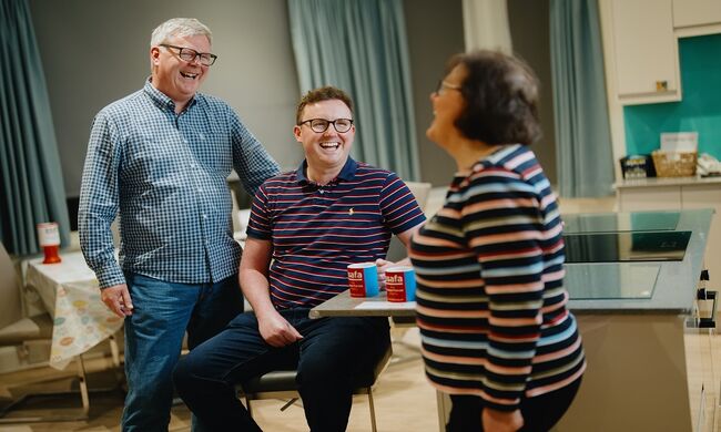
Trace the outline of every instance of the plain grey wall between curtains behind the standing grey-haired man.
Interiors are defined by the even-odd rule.
[[[150,35],[172,17],[213,31],[219,55],[202,92],[227,101],[283,167],[302,150],[292,125],[299,90],[285,0],[30,0],[68,196],[78,196],[95,113],[142,88]]]

